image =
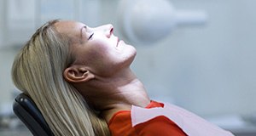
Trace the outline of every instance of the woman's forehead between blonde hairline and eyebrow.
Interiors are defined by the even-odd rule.
[[[67,34],[69,37],[79,36],[83,27],[83,23],[71,20],[62,20],[55,23],[56,31],[62,34]]]

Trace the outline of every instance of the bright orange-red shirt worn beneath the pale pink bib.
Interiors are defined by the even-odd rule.
[[[163,104],[151,101],[146,108],[163,107]],[[148,122],[131,127],[131,111],[119,111],[108,122],[112,136],[186,136],[183,130],[166,116],[157,116]]]

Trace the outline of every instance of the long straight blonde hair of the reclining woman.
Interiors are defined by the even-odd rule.
[[[58,21],[38,28],[15,57],[15,86],[33,99],[55,136],[110,135],[107,123],[62,76],[73,63],[72,40],[55,30]]]

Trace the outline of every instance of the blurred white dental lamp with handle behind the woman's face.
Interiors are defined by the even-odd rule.
[[[177,25],[201,25],[203,11],[176,10],[168,0],[121,0],[118,26],[130,42],[150,44],[168,36]]]

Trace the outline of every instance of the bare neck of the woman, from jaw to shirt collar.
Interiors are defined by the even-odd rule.
[[[131,71],[111,78],[96,77],[84,90],[84,98],[106,121],[117,111],[131,110],[131,105],[145,107],[150,103],[143,83]]]

